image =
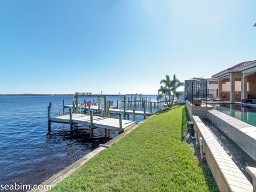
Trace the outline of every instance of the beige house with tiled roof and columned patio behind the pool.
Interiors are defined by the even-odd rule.
[[[256,99],[256,60],[245,61],[212,76],[218,81],[218,98],[252,102]]]

